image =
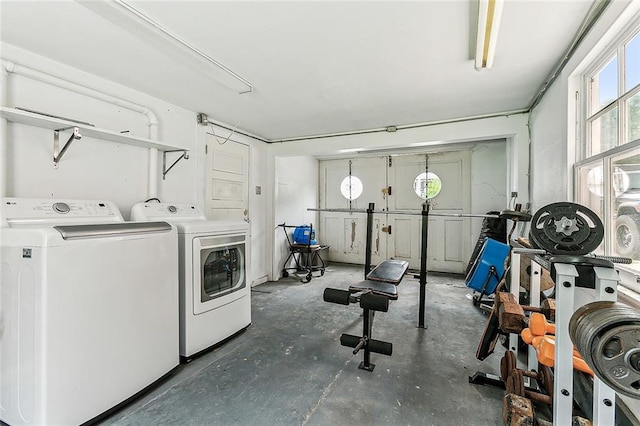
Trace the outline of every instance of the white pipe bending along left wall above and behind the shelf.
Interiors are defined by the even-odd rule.
[[[2,64],[0,67],[0,83],[2,105],[6,106],[8,92],[7,92],[7,77],[8,73],[19,74],[25,77],[29,77],[33,80],[38,80],[43,83],[51,84],[62,89],[67,89],[75,93],[90,96],[94,99],[108,102],[110,104],[126,108],[128,110],[138,112],[147,118],[147,125],[149,126],[149,139],[158,140],[158,117],[153,111],[144,105],[139,105],[134,102],[121,99],[99,90],[92,89],[87,86],[83,86],[78,83],[74,83],[69,80],[65,80],[60,77],[56,77],[51,74],[47,74],[32,68],[18,65],[11,61],[0,60]],[[0,195],[4,195],[6,192],[7,181],[7,169],[6,169],[6,146],[7,146],[7,129],[6,119],[0,120],[0,135],[4,137],[4,141],[0,143]],[[149,181],[148,181],[148,196],[149,198],[157,197],[158,194],[158,150],[151,148],[149,150]]]

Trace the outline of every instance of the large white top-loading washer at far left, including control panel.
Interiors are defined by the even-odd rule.
[[[81,424],[179,365],[174,227],[108,201],[0,203],[0,420]]]

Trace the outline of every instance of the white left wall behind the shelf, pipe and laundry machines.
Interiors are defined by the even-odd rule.
[[[2,59],[19,66],[54,75],[91,90],[147,107],[158,118],[158,139],[190,151],[189,160],[181,160],[162,180],[162,154],[154,161],[157,196],[165,202],[194,203],[204,207],[204,150],[207,127],[196,123],[196,112],[123,87],[66,65],[2,44]],[[6,64],[6,62],[5,62]],[[18,70],[19,68],[16,68]],[[115,132],[129,131],[149,138],[147,118],[138,112],[116,106],[92,96],[56,87],[17,72],[9,72],[7,99],[3,106],[22,107],[48,114],[89,122]],[[81,132],[82,133],[82,132]],[[217,129],[226,137],[228,132]],[[62,133],[68,137],[69,133]],[[108,199],[116,203],[125,218],[131,206],[149,197],[149,150],[125,144],[84,137],[74,141],[59,167],[53,167],[53,131],[23,124],[9,123],[0,141],[6,147],[6,195],[67,199]],[[66,141],[66,137],[63,137]],[[61,138],[62,139],[62,138]],[[271,209],[267,144],[241,135],[234,139],[251,149],[250,218],[252,233],[252,275],[258,280],[268,275],[270,233],[266,224]],[[171,164],[179,154],[169,154]],[[0,172],[1,169],[0,169]],[[255,186],[263,187],[262,195]],[[266,187],[266,188],[265,188]],[[269,228],[270,229],[270,228]],[[269,247],[269,249],[267,249]]]

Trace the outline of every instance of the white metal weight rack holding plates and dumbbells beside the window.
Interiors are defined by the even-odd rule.
[[[516,244],[517,245],[517,244]],[[519,297],[520,255],[522,253],[537,253],[530,250],[513,247],[511,251],[511,292]],[[542,266],[540,259],[531,261],[530,305],[540,306],[540,278]],[[573,313],[580,308],[576,306],[575,287],[578,271],[572,264],[554,263],[556,271],[556,340],[553,388],[553,422],[555,425],[571,424],[573,409],[573,343],[569,337],[569,320]],[[619,277],[612,268],[594,266],[595,288],[592,291],[596,300],[616,301]],[[509,336],[509,346],[516,353],[518,336]],[[535,348],[529,347],[527,368],[537,368],[537,354]],[[593,424],[612,425],[615,422],[616,393],[604,384],[598,377],[593,378]]]

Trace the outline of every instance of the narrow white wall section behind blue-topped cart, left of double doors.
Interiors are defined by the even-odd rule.
[[[297,226],[318,223],[318,160],[310,156],[275,158],[275,224]],[[291,233],[292,229],[287,229]],[[282,228],[274,230],[273,278],[281,276],[289,246]]]

